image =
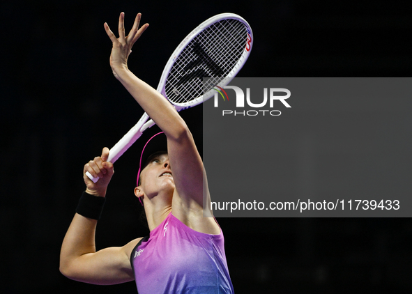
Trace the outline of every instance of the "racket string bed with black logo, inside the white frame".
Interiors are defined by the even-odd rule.
[[[229,77],[247,42],[239,20],[221,20],[199,33],[176,59],[165,85],[172,102],[190,102]],[[205,79],[204,77],[208,77]]]

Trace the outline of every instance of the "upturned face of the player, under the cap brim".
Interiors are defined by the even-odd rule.
[[[155,196],[159,192],[174,191],[173,173],[170,168],[169,155],[160,154],[151,159],[140,174],[144,193],[148,196]]]

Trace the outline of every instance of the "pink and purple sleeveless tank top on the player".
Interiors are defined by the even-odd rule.
[[[139,294],[234,293],[222,230],[190,229],[171,213],[130,256]]]

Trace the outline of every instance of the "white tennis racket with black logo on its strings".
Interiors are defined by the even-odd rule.
[[[174,50],[157,91],[177,111],[199,105],[211,98],[216,88],[226,86],[237,75],[249,57],[252,44],[252,29],[242,17],[233,13],[215,15],[197,26]],[[153,125],[155,122],[144,113],[113,146],[107,161],[116,162]],[[89,172],[86,175],[94,183],[99,179]]]

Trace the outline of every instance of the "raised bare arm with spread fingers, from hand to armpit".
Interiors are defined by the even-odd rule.
[[[220,228],[215,220],[205,218],[203,214],[204,193],[207,199],[209,198],[206,173],[188,126],[158,91],[128,69],[127,60],[132,45],[148,27],[148,24],[144,24],[141,29],[137,29],[140,18],[141,15],[138,14],[132,30],[128,36],[125,36],[124,13],[121,13],[119,38],[116,38],[109,26],[105,24],[107,36],[113,43],[110,65],[114,76],[166,134],[169,160],[176,185],[172,213],[196,231],[219,233]],[[211,215],[208,201],[206,201],[205,209]]]

